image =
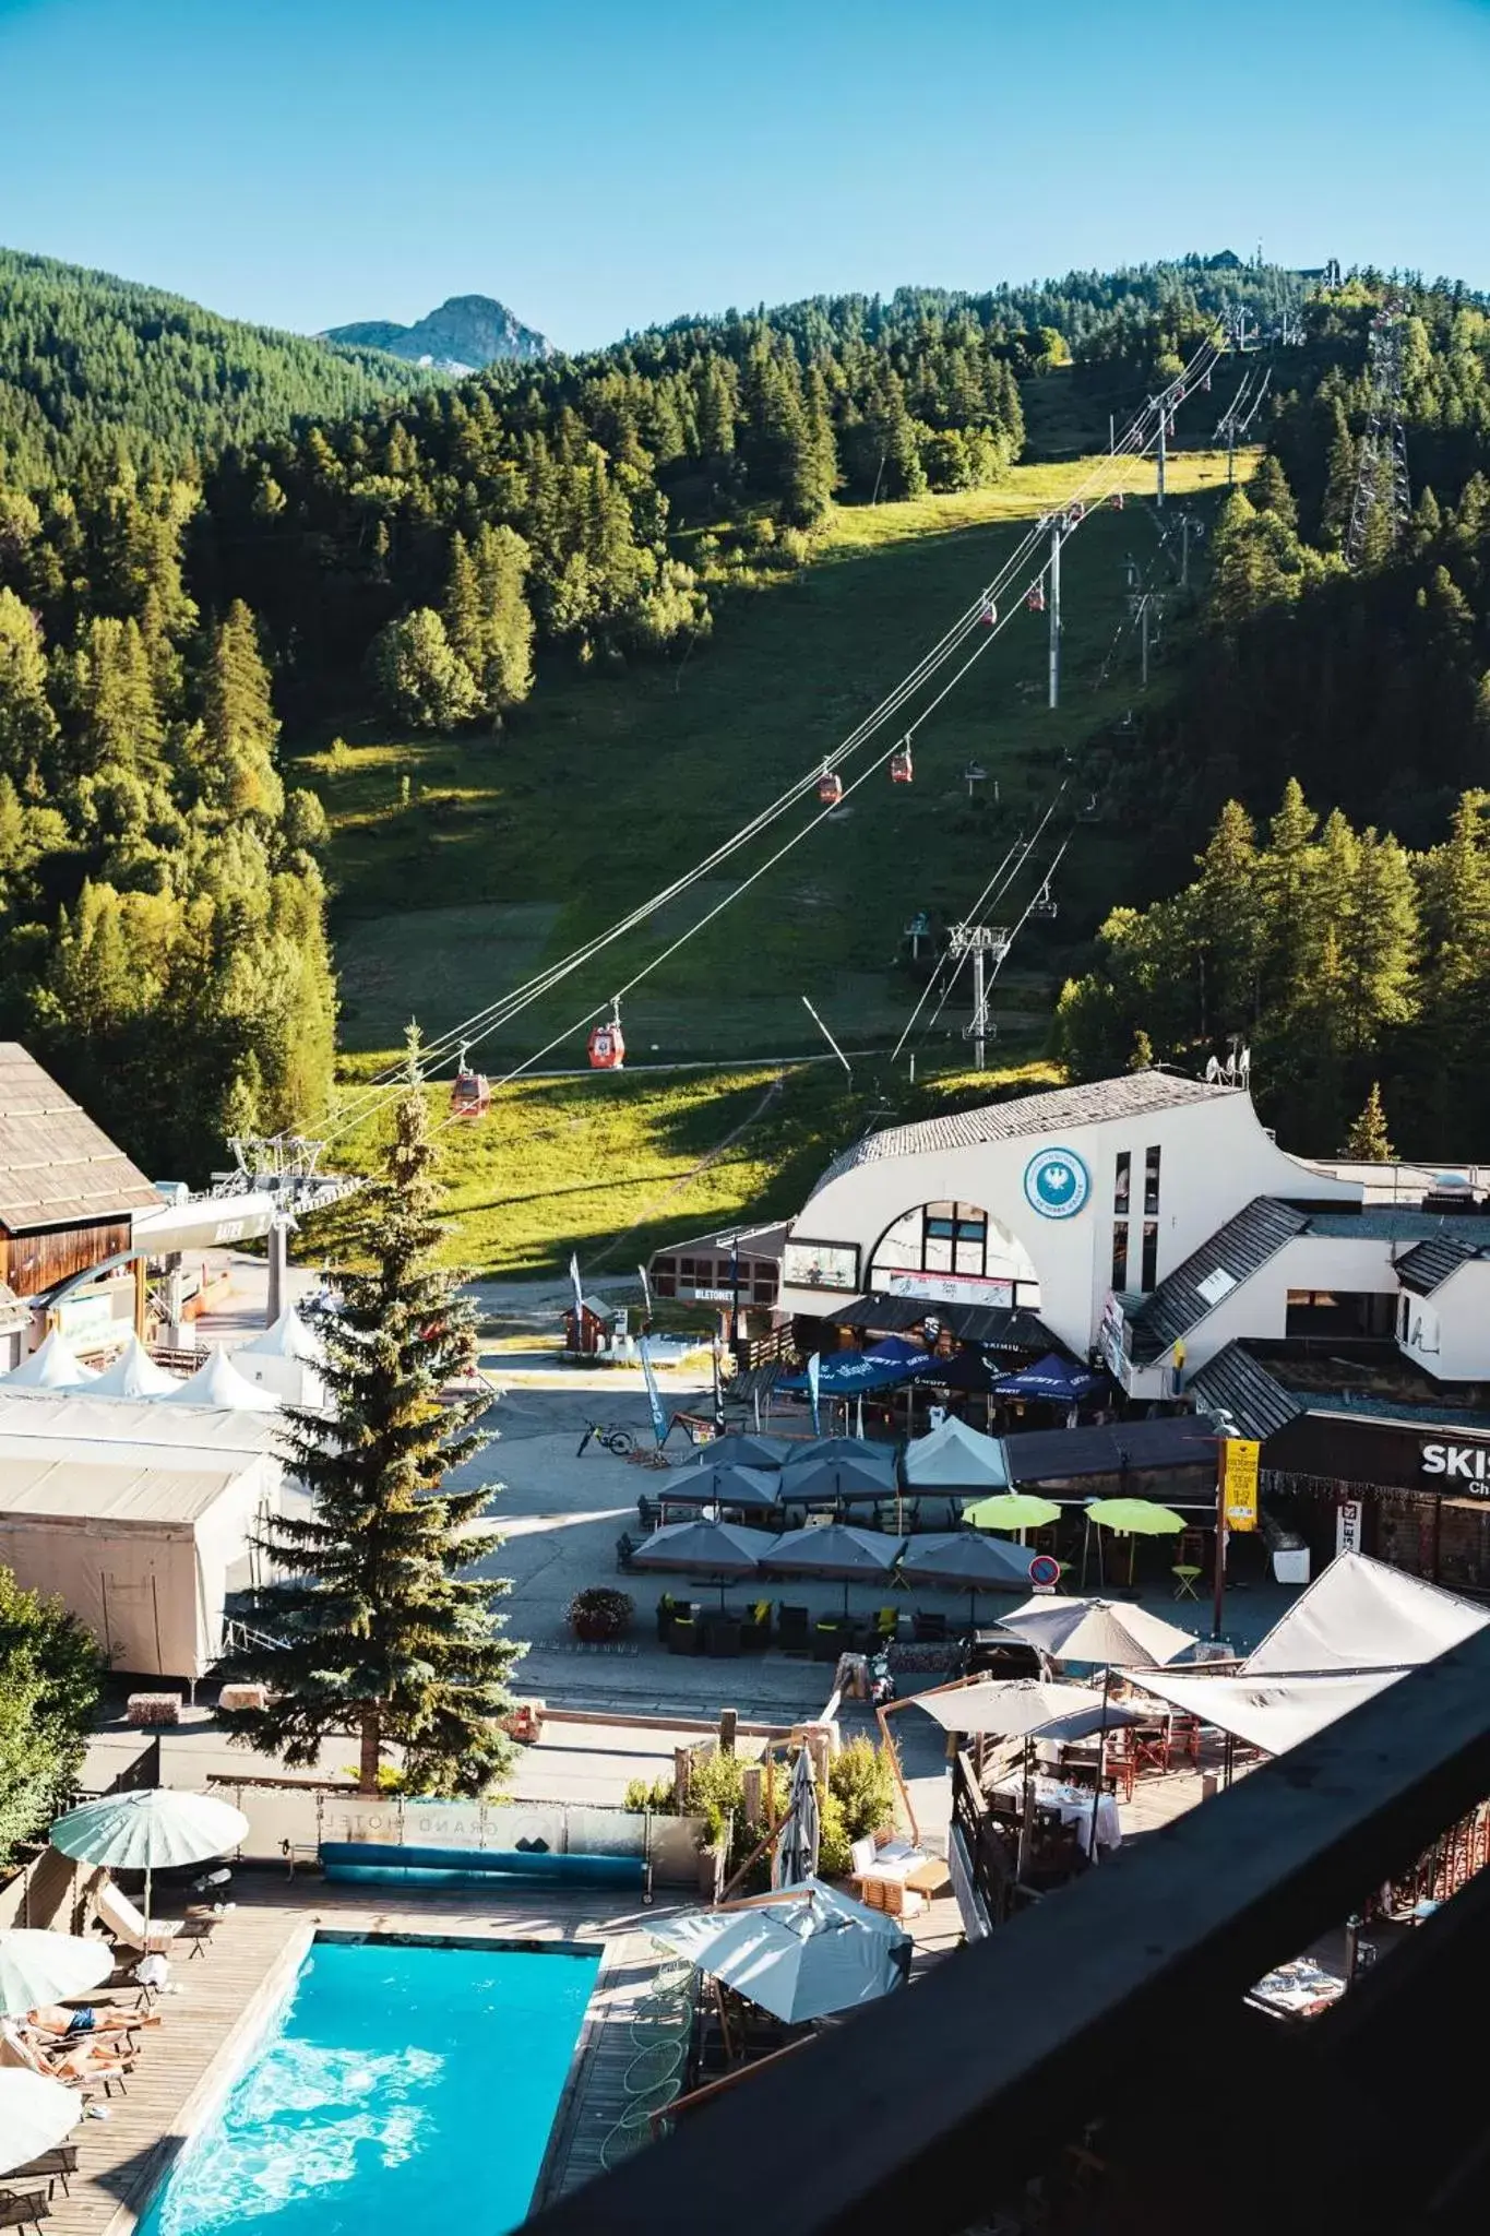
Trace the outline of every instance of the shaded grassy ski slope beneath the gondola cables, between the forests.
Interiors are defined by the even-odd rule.
[[[447,1029],[690,865],[833,747],[994,575],[1019,523],[1088,470],[1016,467],[996,490],[842,510],[811,566],[728,595],[693,657],[605,678],[554,669],[503,740],[364,736],[348,767],[304,756],[333,821],[346,1051],[393,1046],[409,1015],[427,1033]],[[1171,487],[1211,490],[1222,476],[1213,454],[1182,454]],[[1095,514],[1066,550],[1061,709],[1043,702],[1043,617],[1021,613],[918,733],[914,787],[871,776],[628,1002],[634,1051],[806,1053],[818,1042],[802,993],[847,1040],[894,1038],[914,999],[900,966],[907,919],[965,912],[1050,798],[1061,756],[1079,760],[1137,695],[1133,651],[1092,689],[1126,619],[1130,550],[1153,550],[1139,505]],[[967,798],[961,771],[974,758],[996,780],[996,803],[992,783]],[[811,809],[793,809],[730,877],[809,823]],[[1005,975],[1012,1015],[1048,1008],[1072,941],[1121,892],[1124,861],[1121,832],[1077,832],[1061,919],[1032,923]],[[710,885],[695,912],[726,890]],[[693,921],[690,906],[672,906],[489,1042],[487,1069],[565,1033]],[[550,1062],[583,1062],[579,1029]]]

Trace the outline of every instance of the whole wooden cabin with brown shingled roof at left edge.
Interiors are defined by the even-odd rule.
[[[0,1281],[40,1297],[130,1248],[161,1196],[16,1040],[0,1040]]]

